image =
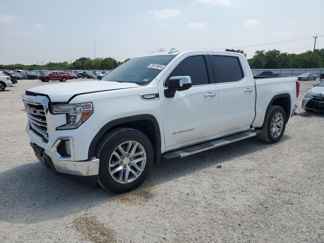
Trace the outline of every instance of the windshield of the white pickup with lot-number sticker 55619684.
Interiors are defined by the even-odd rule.
[[[174,57],[175,55],[161,55],[133,58],[101,80],[145,85],[151,82]]]

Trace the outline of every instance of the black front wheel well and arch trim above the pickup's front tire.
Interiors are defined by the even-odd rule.
[[[158,122],[156,118],[152,115],[143,114],[136,115],[131,117],[120,118],[114,121],[108,122],[105,126],[103,126],[96,136],[93,138],[88,151],[88,158],[93,158],[94,152],[96,150],[97,144],[102,138],[102,136],[109,132],[112,129],[116,129],[119,127],[133,128],[138,130],[147,136],[153,146],[154,152],[154,161],[159,163],[161,158],[161,134]]]

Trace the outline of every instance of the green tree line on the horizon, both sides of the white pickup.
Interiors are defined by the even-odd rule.
[[[162,50],[162,49],[161,49]],[[161,51],[160,49],[157,51]],[[165,49],[164,49],[165,50]],[[226,49],[229,52],[240,52],[246,56],[243,50]],[[151,51],[150,53],[154,53]],[[126,59],[124,62],[128,61]],[[10,64],[1,65],[0,69],[22,69],[22,70],[112,70],[123,64],[124,62],[117,61],[112,57],[91,59],[88,57],[81,57],[73,63],[48,63],[41,65],[22,65]],[[251,69],[272,69],[272,68],[324,68],[324,49],[316,49],[300,54],[289,54],[287,52],[280,52],[273,49],[270,51],[256,51],[252,58],[248,59]]]

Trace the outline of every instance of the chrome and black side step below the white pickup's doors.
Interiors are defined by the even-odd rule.
[[[254,137],[256,136],[258,133],[262,132],[261,130],[255,129],[252,131],[247,131],[247,132],[243,132],[243,133],[238,133],[235,135],[231,135],[228,137],[224,137],[224,138],[219,138],[217,140],[214,141],[210,141],[204,144],[200,144],[200,145],[195,145],[193,147],[186,147],[183,149],[180,149],[178,151],[173,151],[173,152],[167,152],[165,154],[162,154],[162,158],[163,159],[179,159],[179,158],[183,158],[189,155],[193,155],[193,154],[197,154],[212,148],[217,148],[226,144],[231,144],[249,137]]]

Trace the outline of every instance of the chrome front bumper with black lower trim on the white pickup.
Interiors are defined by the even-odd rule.
[[[96,182],[99,171],[98,158],[84,161],[64,160],[57,158],[52,151],[40,147],[31,140],[30,146],[37,159],[55,174],[81,184],[94,185]]]

